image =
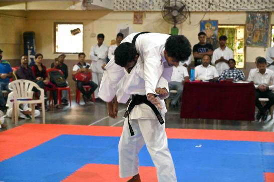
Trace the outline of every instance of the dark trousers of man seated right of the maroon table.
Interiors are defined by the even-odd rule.
[[[259,98],[268,98],[269,101],[266,105],[262,106]],[[256,89],[255,105],[258,107],[261,113],[265,113],[274,104],[274,93],[271,90],[260,91]]]

